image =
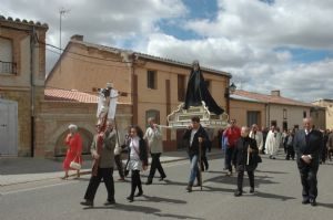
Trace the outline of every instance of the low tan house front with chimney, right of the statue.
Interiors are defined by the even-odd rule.
[[[270,95],[238,90],[231,95],[231,116],[239,125],[278,126],[281,130],[299,128],[304,117],[311,116],[313,105],[291,99],[272,91]]]

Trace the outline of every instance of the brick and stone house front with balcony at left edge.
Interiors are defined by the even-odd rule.
[[[0,15],[0,155],[33,156],[48,24]]]

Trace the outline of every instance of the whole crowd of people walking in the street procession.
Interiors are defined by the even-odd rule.
[[[153,182],[157,170],[160,181],[167,178],[160,161],[163,153],[162,132],[154,118],[148,119],[145,133],[134,125],[130,126],[123,144],[119,143],[113,123],[108,121],[105,129],[97,126],[97,135],[90,147],[93,158],[92,175],[84,195],[83,206],[93,206],[95,192],[103,180],[108,190],[105,206],[115,203],[113,166],[119,171],[119,181],[124,181],[131,172],[131,189],[127,198],[130,202],[135,197],[143,195],[141,170],[148,169],[148,157],[151,156],[151,165],[145,185]],[[312,126],[311,118],[304,118],[303,129],[291,129],[280,132],[279,127],[272,126],[270,130],[259,129],[258,125],[239,127],[235,119],[231,119],[225,129],[218,133],[219,146],[224,153],[224,170],[226,176],[236,174],[235,197],[242,196],[243,177],[246,171],[250,180],[250,193],[254,193],[254,171],[258,164],[262,161],[261,154],[266,154],[270,159],[275,159],[279,148],[284,149],[286,160],[296,160],[302,184],[302,203],[316,206],[317,179],[316,172],[320,164],[324,164],[333,155],[333,133],[330,130],[317,130]],[[211,150],[211,130],[203,128],[199,117],[192,117],[191,124],[183,134],[183,144],[188,149],[190,159],[190,171],[186,191],[191,192],[193,187],[202,187],[201,172],[209,169],[206,151]],[[63,161],[64,177],[69,177],[69,170],[77,169],[77,178],[80,177],[80,165],[82,164],[82,139],[75,125],[69,126],[65,138],[68,145],[67,157]],[[125,166],[122,164],[121,154],[128,153]],[[195,181],[196,180],[196,181]],[[137,192],[137,193],[135,193]]]

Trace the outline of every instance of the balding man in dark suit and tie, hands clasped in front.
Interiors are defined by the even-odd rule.
[[[302,203],[316,206],[317,180],[316,172],[320,165],[320,154],[323,148],[323,135],[312,127],[312,118],[303,119],[304,129],[300,129],[294,137],[294,150],[302,181]]]

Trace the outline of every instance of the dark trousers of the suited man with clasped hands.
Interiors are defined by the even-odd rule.
[[[301,175],[301,181],[302,181],[302,196],[304,199],[315,199],[317,196],[317,188],[316,188],[316,172],[317,167],[310,167],[304,166],[299,169]]]

